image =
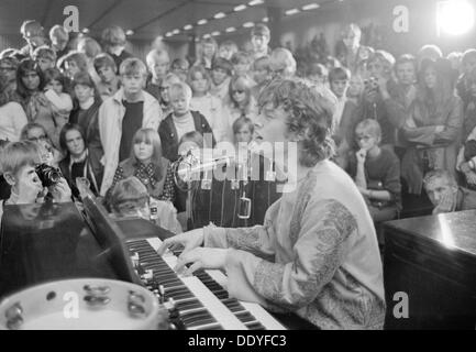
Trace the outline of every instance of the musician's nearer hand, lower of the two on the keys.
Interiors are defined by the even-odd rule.
[[[187,253],[184,252],[178,257],[175,271],[188,276],[200,268],[224,268],[228,251],[224,249],[197,248]],[[186,267],[187,264],[191,264],[190,267]]]

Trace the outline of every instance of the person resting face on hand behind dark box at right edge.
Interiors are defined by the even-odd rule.
[[[433,215],[476,209],[476,191],[458,187],[449,170],[429,172],[423,178],[423,185],[434,206]]]

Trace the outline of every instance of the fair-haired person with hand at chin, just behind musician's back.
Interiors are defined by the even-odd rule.
[[[355,128],[359,150],[351,152],[348,174],[364,196],[374,222],[392,220],[401,209],[400,163],[389,148],[379,147],[380,125],[361,121]]]

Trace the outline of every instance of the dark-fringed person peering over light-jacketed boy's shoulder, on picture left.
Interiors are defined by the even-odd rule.
[[[115,67],[114,59],[108,54],[99,54],[95,57],[95,69],[101,79],[97,84],[97,89],[102,100],[112,97],[121,86],[119,77],[115,75],[118,68]]]

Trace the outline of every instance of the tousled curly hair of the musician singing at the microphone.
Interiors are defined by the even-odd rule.
[[[331,139],[332,103],[309,84],[297,78],[275,79],[259,96],[258,106],[281,107],[287,113],[288,132],[302,134],[299,162],[312,167],[334,153]]]

